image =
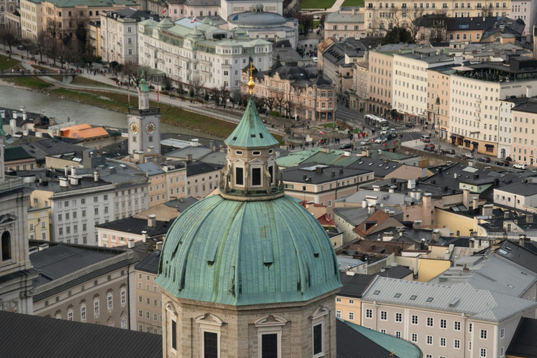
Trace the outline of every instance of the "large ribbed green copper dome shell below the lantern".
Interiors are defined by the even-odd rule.
[[[182,299],[235,306],[307,301],[341,287],[330,240],[289,196],[209,196],[166,235],[157,283]]]

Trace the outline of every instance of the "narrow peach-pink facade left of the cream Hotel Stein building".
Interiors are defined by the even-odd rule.
[[[447,141],[450,131],[450,75],[427,71],[427,113],[441,139]]]

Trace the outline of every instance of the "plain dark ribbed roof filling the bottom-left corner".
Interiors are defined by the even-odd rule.
[[[0,311],[3,358],[161,358],[162,336]]]

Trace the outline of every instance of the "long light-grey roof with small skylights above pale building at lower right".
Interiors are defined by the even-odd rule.
[[[396,294],[401,296],[396,298]],[[416,296],[415,299],[411,300],[412,296]],[[429,298],[433,300],[427,302]],[[474,320],[489,322],[503,322],[514,315],[537,308],[537,302],[475,289],[468,283],[436,285],[383,277],[375,278],[361,300],[465,313]]]

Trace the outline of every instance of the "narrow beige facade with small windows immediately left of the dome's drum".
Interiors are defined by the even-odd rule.
[[[162,334],[162,293],[159,285],[155,283],[157,273],[142,270],[134,271],[136,294],[136,312],[133,312],[131,329],[152,334]]]

